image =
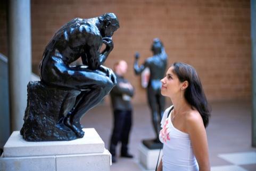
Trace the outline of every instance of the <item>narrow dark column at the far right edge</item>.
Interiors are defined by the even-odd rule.
[[[252,41],[252,146],[256,147],[256,1],[251,0]]]

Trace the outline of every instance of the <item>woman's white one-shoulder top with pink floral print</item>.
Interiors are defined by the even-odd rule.
[[[174,127],[169,107],[163,114],[159,139],[163,143],[163,171],[198,171],[189,135]]]

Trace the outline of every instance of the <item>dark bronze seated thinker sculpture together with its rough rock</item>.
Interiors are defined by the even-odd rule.
[[[113,13],[76,18],[63,25],[45,48],[39,82],[28,84],[28,105],[20,131],[27,141],[73,140],[84,136],[81,117],[116,84],[102,64],[119,28]],[[100,52],[102,45],[105,49]],[[79,57],[82,65],[72,66]]]

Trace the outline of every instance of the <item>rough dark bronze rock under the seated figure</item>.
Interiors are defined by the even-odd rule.
[[[30,81],[28,104],[24,115],[24,124],[20,131],[23,138],[27,141],[77,139],[76,133],[64,125],[62,119],[72,109],[80,92],[56,89],[46,86],[41,81]],[[67,111],[63,111],[63,109]]]

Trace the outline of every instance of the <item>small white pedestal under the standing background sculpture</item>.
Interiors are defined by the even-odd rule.
[[[147,170],[155,170],[156,163],[158,162],[160,149],[150,150],[144,146],[144,144],[139,144],[139,163],[141,163]],[[162,150],[160,152],[159,163],[162,158]]]

